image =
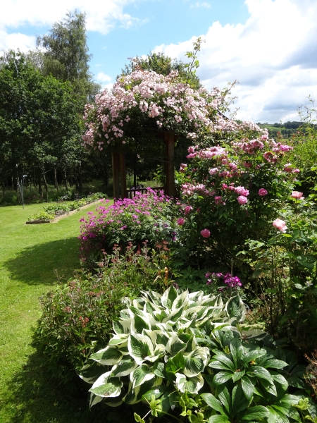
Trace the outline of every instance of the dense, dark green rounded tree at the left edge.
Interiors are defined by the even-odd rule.
[[[4,62],[3,62],[4,63]],[[70,82],[44,77],[25,59],[10,51],[0,69],[0,171],[8,177],[34,175],[47,189],[46,172],[80,163],[80,117]]]

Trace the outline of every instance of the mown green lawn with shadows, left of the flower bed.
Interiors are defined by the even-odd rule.
[[[57,223],[25,225],[42,204],[0,208],[0,422],[97,422],[85,400],[49,381],[30,345],[41,315],[39,298],[80,268],[79,219],[95,205]],[[83,405],[83,406],[82,406]]]

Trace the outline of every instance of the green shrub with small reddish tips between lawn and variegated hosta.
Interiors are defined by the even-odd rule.
[[[33,345],[44,353],[44,365],[55,379],[75,388],[75,369],[108,341],[121,299],[149,287],[161,290],[166,264],[164,250],[151,251],[149,259],[146,245],[135,252],[130,244],[124,256],[116,247],[99,263],[97,274],[82,273],[41,299]]]

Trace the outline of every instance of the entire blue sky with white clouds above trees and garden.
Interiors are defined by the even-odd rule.
[[[185,59],[197,37],[197,75],[211,89],[237,81],[232,111],[253,122],[299,121],[317,99],[316,0],[1,0],[0,50],[35,49],[67,11],[85,12],[90,69],[111,88],[128,57]]]

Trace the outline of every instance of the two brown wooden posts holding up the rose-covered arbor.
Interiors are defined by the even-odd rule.
[[[165,174],[166,185],[164,193],[169,197],[175,197],[175,166],[174,147],[178,140],[173,133],[160,131],[158,137],[165,143]],[[112,175],[113,175],[113,198],[123,199],[128,197],[127,174],[125,169],[125,152],[114,149],[112,152]]]

